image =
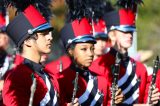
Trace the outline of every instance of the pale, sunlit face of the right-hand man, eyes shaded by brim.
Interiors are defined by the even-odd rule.
[[[116,43],[120,48],[128,49],[132,46],[133,33],[115,31]]]

